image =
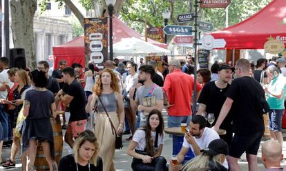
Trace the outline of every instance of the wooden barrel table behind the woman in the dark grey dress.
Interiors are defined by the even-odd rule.
[[[61,160],[61,154],[63,151],[63,132],[61,131],[61,120],[59,119],[59,114],[62,114],[64,111],[57,111],[57,117],[54,119],[50,118],[50,123],[53,127],[54,135],[54,145],[55,145],[55,161],[59,164]],[[35,160],[35,169],[36,170],[50,170],[48,162],[44,154],[43,146],[39,141],[37,141],[37,155]]]

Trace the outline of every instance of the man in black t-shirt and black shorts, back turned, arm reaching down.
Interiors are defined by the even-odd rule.
[[[262,86],[250,77],[250,63],[239,59],[236,63],[236,76],[227,90],[225,103],[213,129],[218,130],[231,106],[233,107],[233,132],[227,161],[230,170],[240,170],[238,158],[246,152],[249,170],[258,170],[257,152],[263,136],[264,121],[259,112],[258,97],[265,97]]]

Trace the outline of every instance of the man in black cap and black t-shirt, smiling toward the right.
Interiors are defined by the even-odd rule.
[[[233,69],[231,66],[223,65],[218,68],[218,80],[211,81],[204,85],[202,88],[202,92],[200,92],[200,97],[198,99],[198,103],[200,106],[198,108],[198,114],[202,114],[203,112],[213,113],[215,116],[216,124],[218,120],[218,114],[220,114],[220,109],[222,108],[223,103],[225,103],[225,93],[229,89],[229,81],[232,77]],[[228,145],[231,144],[232,139],[232,112],[227,114],[227,117],[220,125],[220,128],[227,131],[227,134],[220,135],[220,138],[225,140]]]

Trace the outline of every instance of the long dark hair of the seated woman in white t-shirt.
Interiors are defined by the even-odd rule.
[[[146,136],[145,136],[146,137],[145,138],[146,139],[146,152],[151,157],[153,157],[153,155],[155,154],[154,145],[153,145],[153,141],[155,141],[155,139],[153,139],[152,141],[151,126],[150,126],[150,121],[149,121],[150,117],[153,114],[158,114],[159,121],[160,121],[158,127],[156,128],[156,134],[162,135],[164,131],[164,119],[163,119],[162,113],[156,109],[151,110],[151,112],[148,115],[146,125],[144,126],[144,130],[146,132]]]

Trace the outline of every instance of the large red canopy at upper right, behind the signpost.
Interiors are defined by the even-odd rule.
[[[211,32],[225,39],[225,49],[263,49],[268,37],[286,43],[286,0],[271,1],[265,8],[234,26]]]

